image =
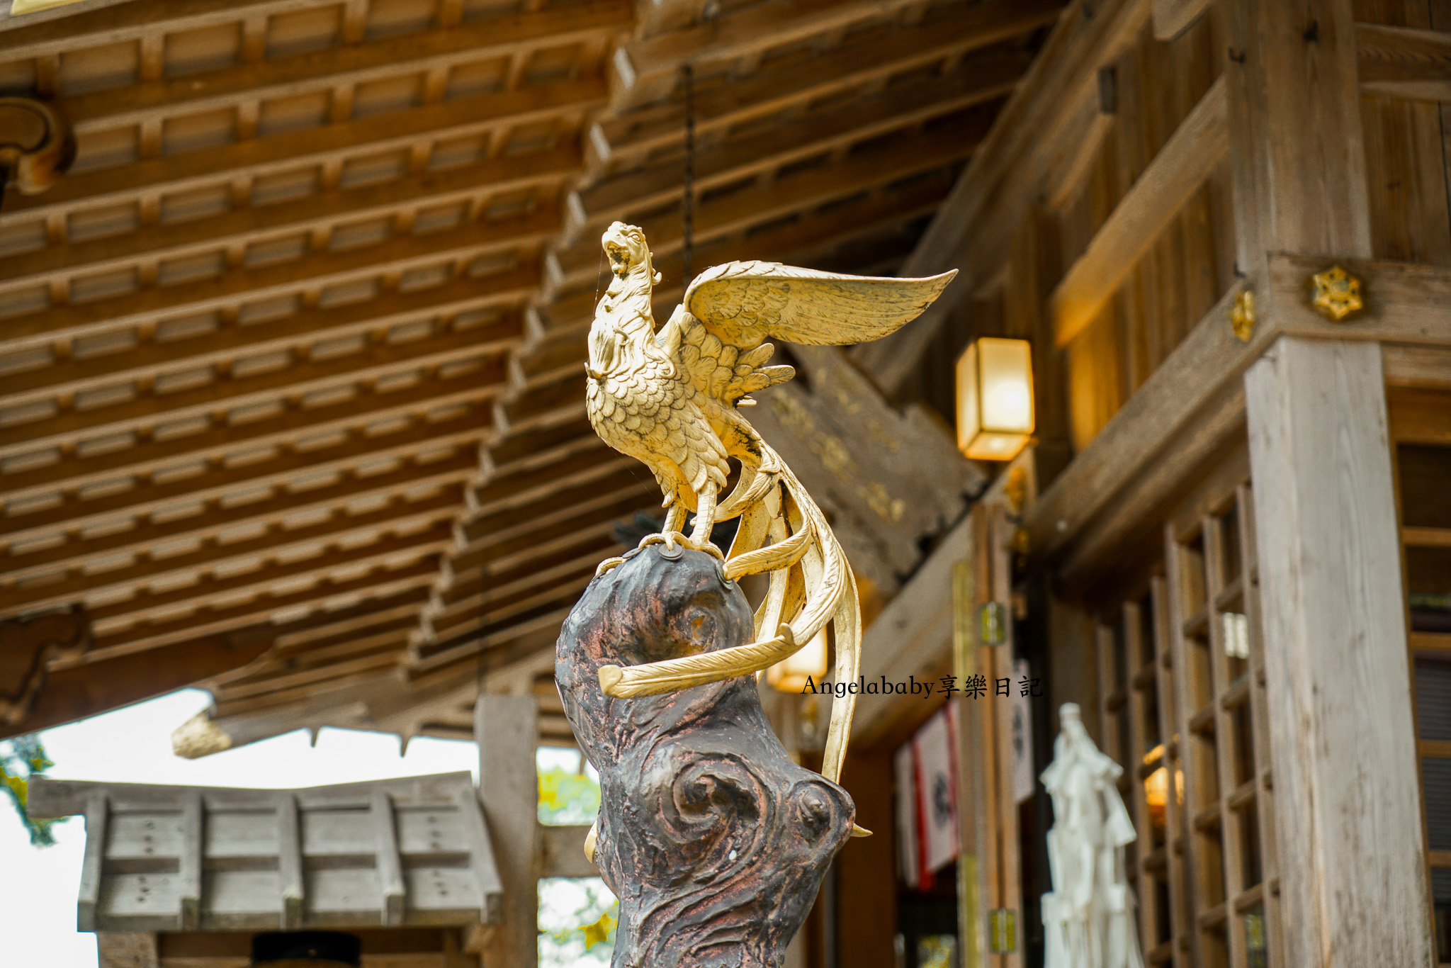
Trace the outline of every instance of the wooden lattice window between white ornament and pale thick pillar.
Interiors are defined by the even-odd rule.
[[[1125,766],[1154,965],[1284,964],[1246,476],[1171,515],[1162,559],[1100,612],[1100,734]]]

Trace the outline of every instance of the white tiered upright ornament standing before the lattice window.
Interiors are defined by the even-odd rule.
[[[1136,836],[1116,785],[1123,768],[1088,739],[1075,704],[1065,702],[1058,718],[1053,762],[1040,776],[1053,798],[1045,968],[1143,968],[1123,871],[1123,846]]]

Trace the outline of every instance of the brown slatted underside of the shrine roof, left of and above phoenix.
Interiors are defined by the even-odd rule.
[[[696,270],[892,273],[1062,4],[70,6],[0,16],[78,148],[0,205],[0,733],[200,682],[207,752],[480,682],[567,739],[560,621],[659,504],[583,412],[598,235],[679,299],[686,100]]]

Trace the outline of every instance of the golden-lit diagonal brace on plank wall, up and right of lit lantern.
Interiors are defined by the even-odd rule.
[[[1133,183],[1053,290],[1053,341],[1065,347],[1113,298],[1229,151],[1229,99],[1214,81]]]

